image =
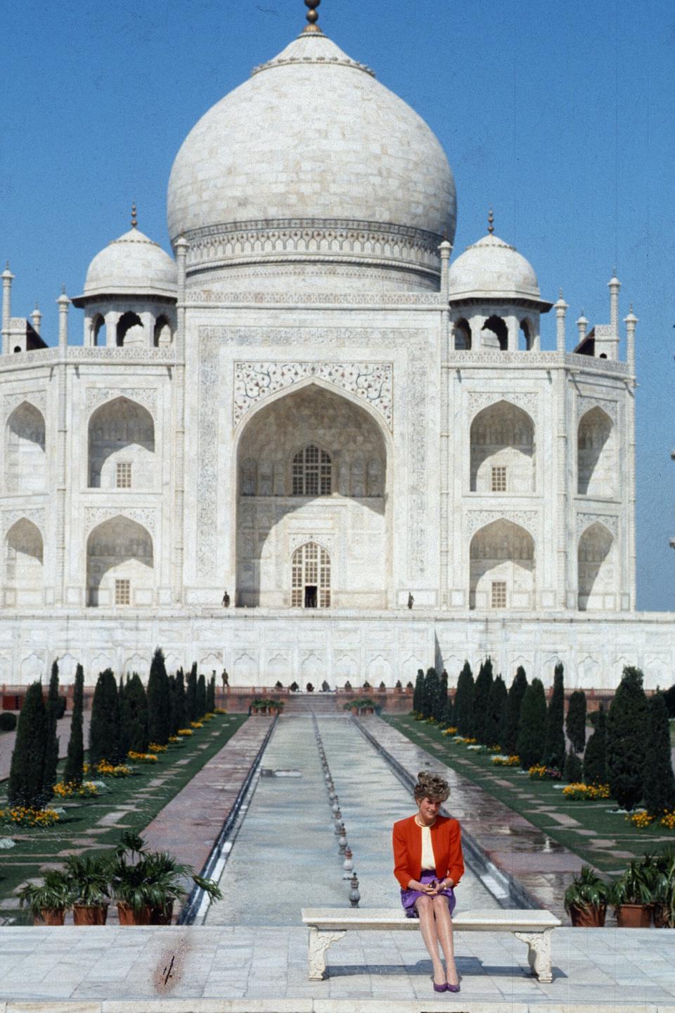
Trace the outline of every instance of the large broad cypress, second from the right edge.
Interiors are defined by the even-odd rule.
[[[640,669],[627,666],[607,714],[607,781],[612,798],[631,809],[643,797],[647,698]]]

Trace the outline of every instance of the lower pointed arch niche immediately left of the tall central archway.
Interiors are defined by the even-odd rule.
[[[149,606],[154,589],[153,540],[121,515],[103,521],[87,539],[87,605]]]

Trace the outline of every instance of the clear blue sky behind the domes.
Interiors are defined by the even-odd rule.
[[[302,0],[23,0],[3,12],[0,257],[56,340],[62,283],[129,227],[168,247],[166,184],[196,120],[304,24]],[[455,251],[496,232],[581,309],[640,318],[638,606],[675,609],[675,8],[666,0],[323,0],[320,23],[427,121],[453,167]],[[80,338],[80,314],[71,332]],[[542,326],[555,344],[555,320]]]

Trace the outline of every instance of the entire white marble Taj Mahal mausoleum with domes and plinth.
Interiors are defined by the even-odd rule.
[[[173,256],[135,211],[53,346],[2,274],[0,682],[147,673],[161,645],[233,686],[453,685],[488,653],[669,685],[675,616],[636,611],[618,279],[607,322],[569,319],[489,196],[453,249],[438,140],[308,6],[178,151]]]

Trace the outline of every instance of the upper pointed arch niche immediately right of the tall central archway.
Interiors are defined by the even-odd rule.
[[[522,408],[498,401],[471,426],[472,492],[527,495],[534,485],[534,422]]]

